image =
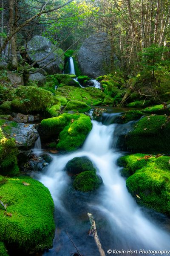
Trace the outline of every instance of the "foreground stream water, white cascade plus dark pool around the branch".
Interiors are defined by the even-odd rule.
[[[159,223],[159,218],[163,222],[165,217],[139,207],[127,192],[125,179],[116,166],[121,153],[112,148],[116,144],[113,143],[116,140],[113,136],[116,124],[92,123],[93,128],[83,148],[54,156],[46,174],[39,177],[51,191],[56,207],[54,247],[44,255],[70,256],[75,251],[65,234],[67,231],[82,255],[99,256],[93,238],[87,235],[90,227],[87,212],[94,214],[106,255],[108,249],[112,250],[112,254],[114,249],[125,250],[124,255],[128,254],[128,249],[170,250],[170,233]],[[89,157],[102,177],[103,186],[95,192],[80,193],[69,186],[71,178],[64,171],[65,165],[72,158],[82,156]]]

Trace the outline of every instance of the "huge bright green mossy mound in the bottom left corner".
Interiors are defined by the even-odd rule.
[[[6,212],[0,205],[1,241],[23,252],[51,248],[54,203],[48,189],[31,177],[14,177],[0,185],[0,195],[7,204]]]

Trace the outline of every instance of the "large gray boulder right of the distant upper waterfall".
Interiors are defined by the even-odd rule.
[[[79,66],[83,75],[98,77],[111,72],[111,42],[107,33],[91,35],[78,52]],[[114,55],[114,64],[119,65]]]

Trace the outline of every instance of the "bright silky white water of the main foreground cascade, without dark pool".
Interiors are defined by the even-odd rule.
[[[40,175],[39,180],[50,190],[57,211],[62,212],[66,216],[65,218],[70,218],[71,221],[71,214],[61,198],[70,182],[70,177],[64,168],[72,158],[87,156],[94,163],[103,180],[103,186],[98,192],[99,200],[93,204],[89,202],[88,207],[92,213],[93,210],[95,214],[99,212],[103,220],[109,223],[109,230],[105,230],[103,227],[104,232],[101,235],[105,238],[107,236],[105,231],[109,231],[113,240],[111,248],[105,248],[105,244],[102,244],[106,255],[108,255],[108,249],[170,250],[170,234],[142,211],[142,208],[136,204],[127,191],[125,179],[120,176],[120,168],[116,166],[116,160],[121,153],[111,148],[113,140],[116,140],[113,137],[116,124],[106,126],[96,121],[92,121],[92,123],[93,128],[83,148],[74,153],[54,156],[46,174]],[[84,232],[86,233],[87,230]],[[84,246],[88,246],[88,244]],[[98,255],[97,253],[96,255]],[[92,254],[89,253],[85,256],[89,255]],[[145,254],[141,253],[141,255]]]

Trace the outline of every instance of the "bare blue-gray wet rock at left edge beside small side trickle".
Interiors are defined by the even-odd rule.
[[[38,132],[35,125],[25,125],[13,121],[3,121],[3,131],[7,132],[10,137],[16,141],[17,148],[31,148],[38,138]]]

